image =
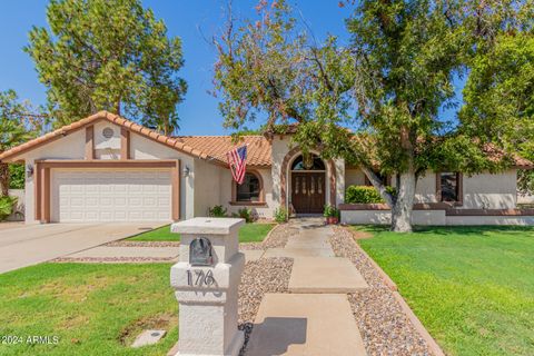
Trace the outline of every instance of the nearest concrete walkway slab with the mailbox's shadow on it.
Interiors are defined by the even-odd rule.
[[[246,354],[367,355],[347,296],[336,294],[266,294]]]

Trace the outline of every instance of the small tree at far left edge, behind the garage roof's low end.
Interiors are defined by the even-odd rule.
[[[29,102],[21,102],[14,90],[0,92],[0,152],[36,137],[42,128],[43,115],[32,112]],[[9,194],[10,169],[0,162],[0,196]]]

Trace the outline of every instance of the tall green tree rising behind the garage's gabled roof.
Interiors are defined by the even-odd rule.
[[[187,89],[181,40],[151,10],[139,0],[52,0],[47,19],[50,30],[34,27],[26,51],[56,126],[105,109],[172,134]]]

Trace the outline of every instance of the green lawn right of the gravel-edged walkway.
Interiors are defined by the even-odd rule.
[[[533,355],[533,228],[363,229],[374,237],[362,247],[447,354]]]

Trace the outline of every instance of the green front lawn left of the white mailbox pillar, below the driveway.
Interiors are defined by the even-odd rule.
[[[57,345],[0,342],[0,355],[166,355],[178,340],[169,268],[42,264],[0,275],[0,337],[59,337]],[[152,346],[126,346],[148,327],[169,333]]]

